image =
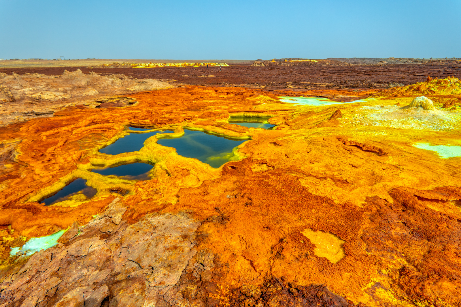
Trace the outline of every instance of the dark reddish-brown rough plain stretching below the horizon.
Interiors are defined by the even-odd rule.
[[[205,86],[244,86],[265,87],[266,90],[286,88],[383,88],[389,83],[405,85],[423,82],[427,76],[445,78],[461,77],[460,61],[442,63],[396,64],[396,65],[352,65],[304,67],[277,66],[252,67],[231,66],[208,69],[202,67],[163,67],[163,68],[98,68],[61,67],[61,68],[1,68],[0,72],[41,73],[45,75],[61,75],[64,70],[73,71],[80,68],[85,74],[90,71],[101,75],[124,74],[138,79],[177,80],[178,84]],[[206,75],[213,75],[206,77]],[[292,83],[286,83],[292,82]],[[301,83],[304,82],[304,83]]]

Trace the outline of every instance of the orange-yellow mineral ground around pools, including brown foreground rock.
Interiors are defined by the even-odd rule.
[[[443,107],[455,79],[283,93],[304,100],[178,87],[2,127],[0,305],[461,306],[461,114]],[[426,94],[431,110],[409,106]],[[275,127],[230,121],[244,116]],[[142,133],[129,127],[162,134],[99,151]],[[213,168],[157,143],[185,130],[244,142]],[[154,165],[149,179],[91,171],[131,162]],[[40,203],[75,178],[95,195]]]

